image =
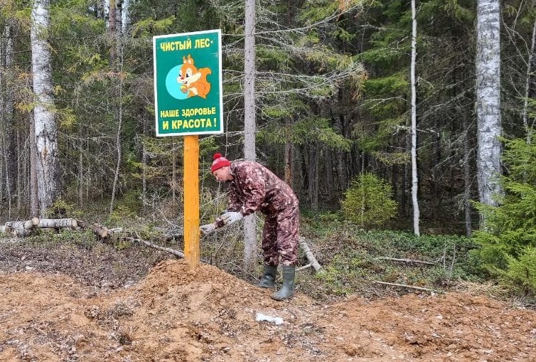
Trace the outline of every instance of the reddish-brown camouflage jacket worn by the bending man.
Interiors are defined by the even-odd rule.
[[[289,185],[272,171],[253,161],[232,161],[228,211],[250,215],[261,211],[277,215],[288,208],[298,208],[298,198]]]

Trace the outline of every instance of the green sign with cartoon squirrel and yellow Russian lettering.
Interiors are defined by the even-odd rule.
[[[221,31],[153,37],[156,136],[223,133]]]

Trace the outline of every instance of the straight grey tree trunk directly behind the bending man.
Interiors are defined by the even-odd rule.
[[[244,157],[255,161],[255,0],[245,0],[244,58]],[[244,218],[244,270],[251,272],[257,260],[255,215]]]

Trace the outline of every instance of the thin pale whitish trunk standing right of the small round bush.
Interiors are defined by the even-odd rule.
[[[419,180],[417,175],[417,92],[415,90],[415,63],[417,60],[417,17],[415,0],[412,0],[412,203],[413,203],[413,233],[420,235],[419,231],[419,201],[417,192]]]

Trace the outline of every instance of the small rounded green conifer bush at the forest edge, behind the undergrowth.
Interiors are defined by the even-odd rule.
[[[388,183],[374,174],[360,174],[344,193],[344,217],[362,228],[383,225],[397,213],[397,203],[391,197]]]

